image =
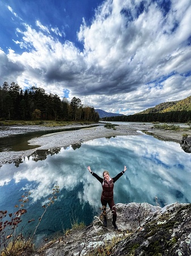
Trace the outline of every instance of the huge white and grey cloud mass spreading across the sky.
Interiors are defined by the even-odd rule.
[[[191,94],[190,12],[188,0],[107,0],[90,26],[83,19],[79,27],[83,51],[53,38],[50,31],[62,33],[37,20],[40,31],[28,24],[18,28],[22,38],[15,43],[26,51],[7,59],[24,67],[15,78],[20,86],[27,79],[60,97],[70,90],[95,108],[139,112]],[[1,76],[1,82],[6,79]]]

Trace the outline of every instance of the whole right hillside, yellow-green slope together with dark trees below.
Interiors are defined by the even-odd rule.
[[[190,122],[191,96],[180,101],[164,102],[134,115],[107,117],[103,121],[121,122]]]

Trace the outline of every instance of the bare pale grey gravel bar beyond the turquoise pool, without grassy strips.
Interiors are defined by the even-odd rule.
[[[98,124],[97,124],[98,125]],[[142,135],[138,131],[147,131],[150,135],[154,135],[156,138],[164,141],[180,142],[182,134],[185,131],[169,131],[153,129],[151,123],[132,123],[130,125],[118,125],[116,130],[107,129],[104,125],[87,127],[81,130],[62,131],[57,132],[58,129],[67,129],[71,127],[82,127],[82,125],[67,125],[63,127],[45,127],[45,126],[12,126],[6,127],[6,129],[0,129],[0,137],[6,137],[12,134],[26,133],[28,131],[39,130],[55,130],[55,133],[43,135],[39,138],[33,138],[29,141],[31,145],[39,145],[39,147],[25,151],[11,151],[0,152],[0,166],[5,163],[11,163],[15,159],[24,158],[31,155],[34,151],[46,150],[50,148],[65,147],[71,144],[82,143],[84,141],[90,141],[91,139],[112,137],[118,135]],[[191,130],[186,131],[191,135]]]

